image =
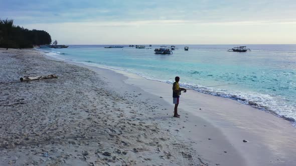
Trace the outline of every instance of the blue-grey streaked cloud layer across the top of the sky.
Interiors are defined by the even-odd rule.
[[[19,23],[188,20],[197,22],[294,19],[294,0],[6,0],[1,16]],[[286,5],[288,4],[288,5]]]

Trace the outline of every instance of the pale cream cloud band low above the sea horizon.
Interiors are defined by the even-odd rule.
[[[288,25],[287,25],[288,23]],[[296,22],[208,22],[145,20],[26,24],[65,44],[295,43]],[[270,35],[272,34],[272,35]],[[162,37],[157,37],[162,36]]]

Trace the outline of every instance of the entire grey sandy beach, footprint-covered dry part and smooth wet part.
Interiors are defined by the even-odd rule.
[[[0,165],[296,165],[295,128],[231,99],[189,90],[174,118],[170,84],[35,49],[0,68]]]

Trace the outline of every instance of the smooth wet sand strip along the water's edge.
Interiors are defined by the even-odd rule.
[[[100,66],[96,66],[96,65],[90,67],[90,65],[87,65],[85,63],[79,63],[71,60],[65,60],[65,61],[72,64],[91,68],[94,70],[96,70],[96,68],[100,68]],[[128,79],[124,81],[125,83],[136,86],[136,87],[140,87],[144,91],[152,93],[158,97],[161,96],[163,99],[166,100],[167,103],[171,104],[171,108],[173,109],[173,104],[171,101],[172,98],[171,98],[170,84],[161,82],[158,80],[146,79],[137,74],[130,73],[123,70],[117,70],[117,69],[108,68],[108,67],[106,67],[105,69],[112,70],[114,72],[121,73],[124,76],[127,76]],[[181,82],[182,82],[182,78],[181,78]],[[168,89],[168,90],[164,90],[164,89]],[[227,141],[231,145],[233,145],[234,144],[233,142],[235,142],[240,154],[244,154],[245,156],[247,156],[247,157],[244,156],[247,165],[257,165],[256,161],[260,161],[261,160],[260,157],[268,158],[270,161],[266,162],[265,164],[268,163],[269,165],[270,165],[270,162],[273,162],[272,164],[276,163],[276,161],[272,161],[274,157],[279,157],[277,159],[278,161],[277,164],[280,164],[281,157],[285,158],[286,157],[285,155],[289,156],[289,153],[292,153],[292,150],[289,148],[295,147],[295,145],[293,145],[293,143],[291,142],[296,142],[296,139],[293,138],[294,135],[296,135],[296,132],[295,132],[295,128],[291,124],[291,121],[284,119],[282,117],[278,117],[274,115],[272,112],[262,111],[262,109],[258,109],[249,104],[237,102],[232,98],[214,96],[211,94],[206,94],[206,93],[198,92],[195,90],[190,90],[190,91],[192,92],[192,95],[189,95],[189,96],[186,96],[188,92],[182,93],[182,96],[180,98],[179,109],[182,112],[185,111],[187,113],[192,113],[193,116],[199,117],[199,120],[203,121],[204,123],[208,123],[207,125],[213,125],[214,128],[217,128],[219,131],[221,131],[220,134],[227,137]],[[192,98],[198,98],[200,99],[200,101],[197,102],[196,99],[192,99]],[[203,98],[206,98],[206,99],[203,99]],[[185,102],[183,100],[185,100]],[[205,101],[207,103],[203,103]],[[197,102],[198,104],[192,104],[195,102]],[[211,102],[214,102],[214,103],[211,103]],[[230,104],[231,106],[229,106],[228,104]],[[219,110],[221,109],[220,105],[223,105],[226,108]],[[198,111],[197,112],[196,109],[193,109],[193,107],[195,108],[201,107],[202,111],[197,110]],[[208,107],[208,110],[204,111],[205,110],[204,108],[207,108],[207,107]],[[241,109],[241,110],[237,111],[237,109]],[[221,124],[222,124],[222,127],[221,127]],[[192,126],[194,125],[195,125],[194,122],[191,123],[191,125],[188,126],[190,129],[188,129],[187,132],[183,134],[192,134],[192,130],[194,130]],[[265,132],[265,131],[269,131],[269,132],[265,133],[266,135],[264,136],[260,135],[262,132]],[[240,133],[242,136],[237,135],[236,133]],[[197,134],[198,133],[193,134],[191,139],[194,139],[194,136],[196,136]],[[280,140],[273,140],[274,135],[277,135],[277,138]],[[238,138],[239,140],[237,140]],[[248,150],[247,153],[250,153],[249,155],[246,155],[246,151],[244,151],[244,148],[246,148],[245,145],[241,144],[241,142],[243,142],[242,141],[243,139],[247,139],[247,140],[254,139],[257,141],[252,144],[253,147],[249,147],[247,149]],[[268,141],[270,144],[265,144],[262,142],[259,143],[259,141],[262,141],[262,142]],[[284,143],[284,141],[286,141],[287,143]],[[270,149],[271,147],[269,146],[276,146],[276,149],[280,149],[280,148],[282,149],[280,149],[279,151],[270,152],[268,150],[274,150],[274,149]],[[196,147],[196,148],[201,148],[201,147]],[[259,152],[258,148],[262,148],[263,150],[261,149],[261,152]],[[290,152],[285,152],[285,151],[290,151]],[[262,156],[262,153],[266,153],[266,154]],[[273,156],[272,153],[278,153],[278,154],[284,154],[284,155]],[[293,158],[292,156],[293,155],[289,156],[288,158]],[[296,162],[296,160],[293,161],[293,159],[291,161],[292,163]]]

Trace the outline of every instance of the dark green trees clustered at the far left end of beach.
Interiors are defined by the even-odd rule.
[[[0,19],[0,47],[3,48],[32,48],[33,45],[51,43],[51,36],[44,30],[29,30],[14,25],[13,19]]]

